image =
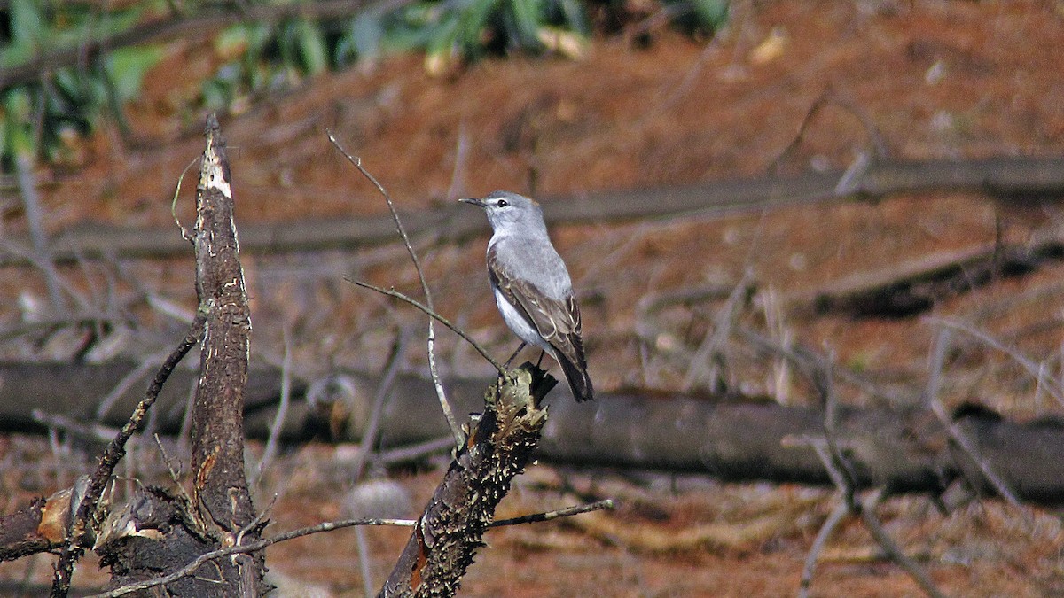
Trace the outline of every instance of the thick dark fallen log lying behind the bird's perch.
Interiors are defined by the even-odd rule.
[[[64,413],[90,420],[99,397],[134,367],[104,365],[0,364],[0,422],[26,431],[35,423],[32,411]],[[194,373],[176,371],[159,398],[159,427],[181,426],[187,384]],[[351,396],[343,405],[290,405],[282,437],[301,441],[329,434],[329,418],[348,418],[334,427],[336,439],[352,442],[366,425],[377,386],[371,376],[345,375]],[[458,413],[479,410],[487,380],[450,380],[449,395]],[[263,437],[276,413],[280,373],[252,369],[247,391],[247,431]],[[305,388],[296,388],[296,398]],[[803,438],[822,437],[824,412],[771,401],[722,401],[710,397],[632,391],[602,393],[577,404],[548,397],[550,419],[543,431],[539,459],[554,463],[606,467],[701,471],[726,480],[766,480],[830,484],[814,450]],[[138,391],[122,396],[106,422],[118,423],[135,404]],[[322,410],[322,408],[325,408]],[[838,443],[854,463],[858,483],[892,492],[938,493],[968,480],[979,492],[992,491],[971,459],[949,441],[933,413],[844,408],[838,414]],[[1064,504],[1064,422],[1042,419],[1018,422],[985,409],[967,406],[955,414],[964,433],[986,464],[1025,501]],[[385,448],[447,435],[447,422],[434,399],[432,383],[417,376],[397,379],[381,422]]]

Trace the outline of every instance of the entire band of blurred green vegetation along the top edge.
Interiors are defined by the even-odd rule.
[[[389,52],[421,51],[426,68],[445,74],[467,61],[514,52],[579,57],[593,29],[610,33],[664,15],[684,30],[712,35],[728,18],[727,0],[0,0],[0,73],[39,65],[34,77],[0,88],[0,169],[37,160],[63,163],[72,144],[110,117],[127,133],[122,105],[140,93],[144,74],[163,56],[160,44],[111,45],[118,34],[165,20],[227,17],[213,36],[221,63],[202,84],[196,109],[240,111],[255,98],[305,77]],[[348,14],[335,13],[350,6]],[[338,6],[338,9],[337,9]],[[647,6],[651,9],[648,10]],[[297,10],[293,10],[297,9]],[[334,9],[317,17],[316,9]],[[321,11],[322,14],[328,11]],[[276,18],[270,18],[270,17]]]

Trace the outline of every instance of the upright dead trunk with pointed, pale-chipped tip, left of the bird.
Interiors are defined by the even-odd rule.
[[[206,149],[196,188],[196,293],[206,318],[200,378],[193,403],[193,496],[200,518],[222,544],[256,519],[244,471],[244,392],[248,381],[251,317],[233,221],[232,177],[217,118],[207,117]],[[259,530],[244,533],[254,542]],[[261,594],[262,562],[220,566],[231,592]],[[246,584],[251,583],[251,587]],[[215,589],[217,592],[217,589]]]

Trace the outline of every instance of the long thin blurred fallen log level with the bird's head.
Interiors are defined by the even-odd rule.
[[[842,184],[845,182],[845,184]],[[883,197],[931,189],[985,193],[1005,201],[1064,196],[1064,156],[991,156],[979,160],[881,161],[859,172],[831,170],[792,176],[765,176],[706,181],[675,187],[636,188],[544,198],[548,222],[610,222],[698,213],[726,215],[803,205],[851,197]],[[456,217],[456,206],[404,214],[414,237],[440,235],[462,238],[486,230],[477,218]],[[26,234],[11,234],[17,246],[29,247]],[[392,216],[244,225],[245,253],[312,251],[395,243]],[[188,244],[173,227],[133,229],[83,225],[51,239],[57,261],[109,255],[166,258],[188,255]],[[0,253],[0,265],[27,264],[23,256]]]

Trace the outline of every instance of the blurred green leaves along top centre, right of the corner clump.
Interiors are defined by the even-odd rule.
[[[663,2],[675,5],[678,24],[691,31],[712,34],[728,18],[728,0]],[[250,98],[303,77],[389,52],[425,52],[434,73],[493,54],[579,56],[591,33],[587,6],[586,0],[415,0],[378,2],[339,22],[299,17],[237,24],[217,38],[217,53],[232,57],[204,83],[203,102],[239,111]]]

